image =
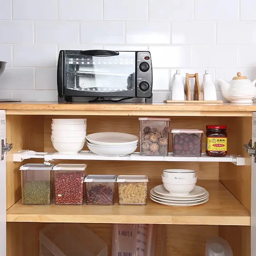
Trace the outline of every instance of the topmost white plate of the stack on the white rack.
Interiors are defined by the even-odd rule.
[[[122,132],[97,132],[86,136],[91,143],[98,145],[125,145],[132,144],[139,141],[135,135]]]

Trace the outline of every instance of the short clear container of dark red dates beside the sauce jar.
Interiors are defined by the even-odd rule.
[[[172,129],[173,156],[201,156],[202,130]]]

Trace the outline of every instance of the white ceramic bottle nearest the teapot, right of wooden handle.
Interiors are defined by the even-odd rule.
[[[212,83],[211,75],[208,73],[208,70],[205,70],[200,90],[201,100],[217,100],[216,88]]]

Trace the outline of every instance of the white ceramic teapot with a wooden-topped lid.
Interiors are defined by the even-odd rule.
[[[231,103],[252,103],[252,99],[256,97],[256,80],[251,82],[246,76],[241,76],[240,72],[233,77],[230,84],[223,79],[217,81],[220,82],[223,97]]]

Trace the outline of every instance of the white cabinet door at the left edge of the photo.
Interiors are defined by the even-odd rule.
[[[5,110],[0,110],[0,141],[5,141]],[[1,155],[1,145],[0,145]],[[1,158],[0,158],[1,159]],[[0,255],[6,255],[6,155],[0,160]]]

